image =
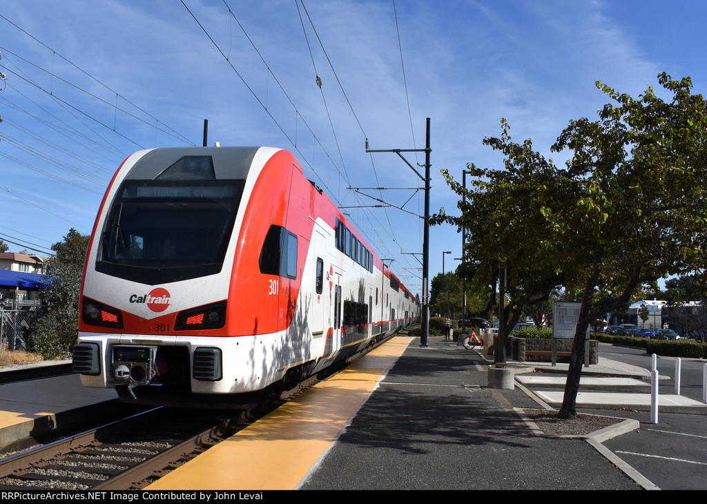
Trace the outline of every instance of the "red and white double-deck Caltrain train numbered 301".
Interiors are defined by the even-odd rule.
[[[156,148],[100,206],[73,370],[125,402],[239,407],[419,312],[289,151]]]

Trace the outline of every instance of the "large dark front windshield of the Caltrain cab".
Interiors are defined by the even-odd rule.
[[[243,180],[126,180],[96,270],[154,285],[221,271]]]

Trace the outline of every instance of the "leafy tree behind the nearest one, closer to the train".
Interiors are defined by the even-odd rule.
[[[486,138],[484,144],[503,153],[503,169],[481,169],[469,163],[469,188],[442,170],[452,190],[465,197],[457,204],[461,216],[450,216],[440,209],[431,218],[433,224],[450,223],[466,231],[460,269],[477,292],[488,293],[487,311],[501,313],[496,286],[500,268],[505,268],[504,330],[498,335],[496,363],[505,362],[504,342],[523,313],[547,303],[563,283],[557,267],[559,251],[545,244],[553,226],[542,213],[544,201],[557,199],[556,193],[563,191],[558,171],[533,151],[530,140],[513,143],[505,119],[501,126],[501,137]]]

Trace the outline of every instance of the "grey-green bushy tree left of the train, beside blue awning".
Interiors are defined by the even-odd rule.
[[[78,294],[88,238],[71,228],[64,241],[52,245],[56,255],[47,261],[42,277],[47,288],[42,294],[42,308],[34,327],[35,348],[46,358],[68,354],[76,342]]]

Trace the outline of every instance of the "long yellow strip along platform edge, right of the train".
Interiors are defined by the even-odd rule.
[[[390,339],[146,490],[292,490],[412,339]]]

